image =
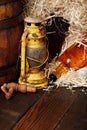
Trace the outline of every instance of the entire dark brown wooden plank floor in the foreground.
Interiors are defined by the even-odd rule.
[[[0,130],[87,130],[87,90],[60,87],[11,100],[0,92]]]

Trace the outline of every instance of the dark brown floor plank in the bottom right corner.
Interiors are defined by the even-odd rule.
[[[87,130],[87,94],[79,93],[55,130]]]

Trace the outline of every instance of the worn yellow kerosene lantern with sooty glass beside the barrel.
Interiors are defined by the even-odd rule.
[[[19,84],[34,85],[37,88],[48,84],[44,67],[48,60],[46,29],[42,18],[26,17],[21,39],[21,69]]]

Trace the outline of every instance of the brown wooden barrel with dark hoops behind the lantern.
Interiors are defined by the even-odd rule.
[[[21,0],[0,0],[0,85],[17,79],[22,10]]]

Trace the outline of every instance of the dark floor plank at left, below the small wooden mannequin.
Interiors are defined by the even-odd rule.
[[[0,130],[12,130],[14,125],[41,97],[39,93],[15,93],[10,100],[6,100],[0,91]]]

